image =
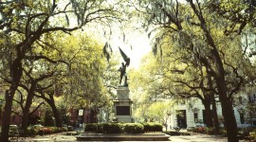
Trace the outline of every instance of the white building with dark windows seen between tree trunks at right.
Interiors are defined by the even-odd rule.
[[[192,101],[193,105],[189,105]],[[234,106],[234,115],[238,127],[256,126],[255,111],[249,113],[247,111],[247,104],[256,106],[256,94],[247,96],[246,99],[238,99],[240,105]],[[217,115],[219,122],[222,117],[222,110],[220,103],[217,103]],[[241,111],[243,110],[243,111]],[[242,112],[242,113],[241,113]],[[205,108],[201,100],[198,98],[186,99],[182,103],[174,106],[174,110],[168,119],[168,129],[170,128],[190,128],[196,126],[205,126]],[[223,126],[221,123],[220,126]]]

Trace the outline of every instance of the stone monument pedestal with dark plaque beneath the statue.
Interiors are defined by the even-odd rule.
[[[115,115],[119,122],[134,122],[132,117],[133,101],[129,98],[129,87],[119,86],[117,88],[118,98],[114,99]]]

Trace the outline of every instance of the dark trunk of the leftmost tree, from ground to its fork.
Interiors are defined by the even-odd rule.
[[[9,90],[6,91],[6,104],[4,107],[3,119],[2,119],[2,131],[1,131],[1,141],[9,141],[9,123],[12,107],[12,99],[14,98],[15,92],[18,88],[22,76],[22,63],[19,59],[13,61],[11,67],[11,78],[12,82],[10,84]]]

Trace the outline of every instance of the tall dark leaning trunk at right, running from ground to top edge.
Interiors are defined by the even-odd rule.
[[[214,74],[213,77],[217,83],[217,90],[220,96],[222,113],[225,119],[225,125],[227,126],[228,141],[238,142],[239,140],[237,137],[237,124],[235,121],[235,116],[233,114],[232,104],[229,101],[229,98],[227,97],[227,84],[225,80],[225,70],[224,70],[221,56],[211,37],[210,30],[209,30],[210,28],[207,26],[207,22],[204,18],[203,13],[201,12],[201,9],[197,9],[197,7],[194,5],[192,0],[190,0],[189,2],[198,20],[200,21],[200,27],[205,33],[205,37],[211,48],[210,52],[213,57],[211,62],[213,62],[214,64],[211,65],[209,62],[207,62],[206,66],[209,65],[212,67],[211,71]]]

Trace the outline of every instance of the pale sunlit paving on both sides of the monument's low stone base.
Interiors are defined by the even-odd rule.
[[[11,141],[19,142],[69,142],[76,141],[76,136],[74,135],[64,135],[64,133],[49,134],[43,136],[27,137],[13,139]],[[227,137],[207,135],[207,134],[192,134],[192,135],[180,135],[180,136],[171,136],[171,142],[228,142]],[[248,142],[247,140],[240,140],[240,142]]]

